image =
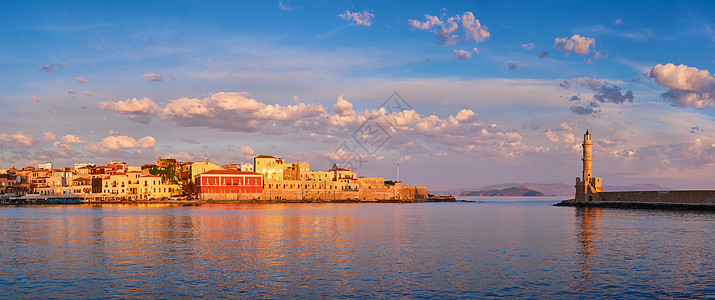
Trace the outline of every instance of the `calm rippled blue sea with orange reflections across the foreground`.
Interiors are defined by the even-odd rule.
[[[0,297],[715,296],[713,213],[466,198],[0,207]]]

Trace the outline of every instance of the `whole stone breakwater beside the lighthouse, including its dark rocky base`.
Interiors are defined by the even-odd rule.
[[[715,190],[599,192],[586,201],[564,200],[557,206],[715,210]]]

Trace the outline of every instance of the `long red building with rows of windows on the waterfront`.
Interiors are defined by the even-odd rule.
[[[232,197],[232,194],[251,194],[251,197],[257,197],[263,193],[263,175],[254,172],[212,170],[198,174],[194,179],[199,196],[216,200],[245,198],[238,197],[239,195]]]

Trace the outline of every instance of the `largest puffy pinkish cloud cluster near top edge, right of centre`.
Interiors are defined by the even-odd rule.
[[[437,43],[443,46],[452,46],[460,41],[460,36],[457,32],[460,25],[465,41],[480,43],[490,36],[488,28],[482,25],[470,11],[444,20],[437,16],[425,14],[425,21],[408,20],[408,23],[412,26],[412,29],[432,30],[432,33],[437,38]]]

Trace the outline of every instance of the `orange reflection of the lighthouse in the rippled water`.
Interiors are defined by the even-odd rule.
[[[593,256],[598,252],[599,236],[601,234],[601,209],[593,207],[576,208],[578,257],[580,273],[577,275],[578,291],[585,292],[591,288]]]

